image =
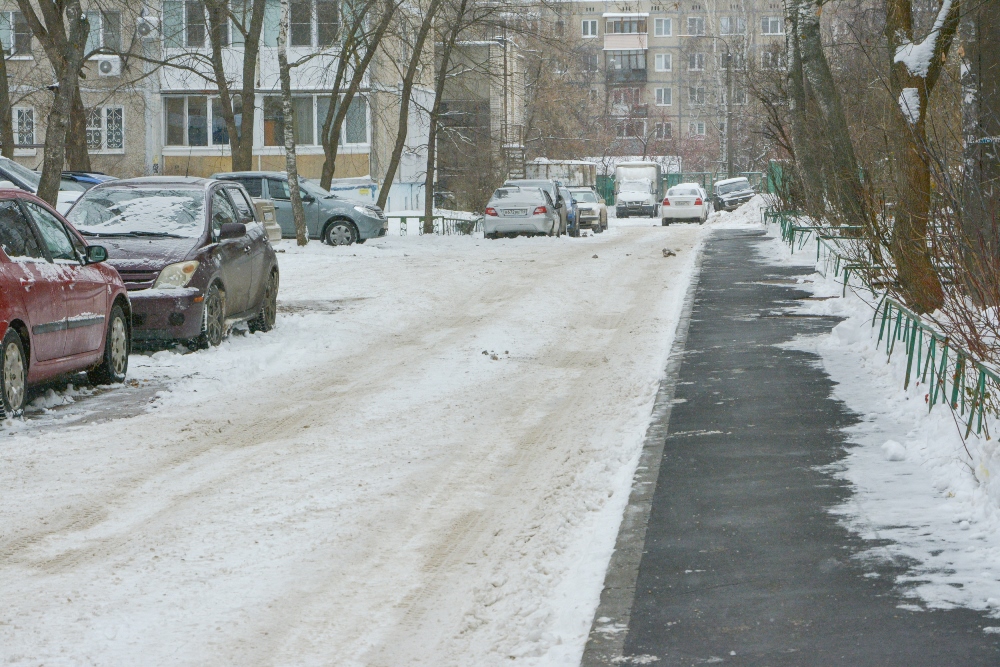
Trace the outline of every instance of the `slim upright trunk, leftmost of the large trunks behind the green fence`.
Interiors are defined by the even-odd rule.
[[[806,0],[789,0],[786,14],[785,50],[788,58],[788,118],[796,172],[805,198],[806,212],[820,220],[826,210],[823,176],[817,164],[818,151],[806,118],[806,87],[802,79],[802,55],[798,38],[798,5]]]

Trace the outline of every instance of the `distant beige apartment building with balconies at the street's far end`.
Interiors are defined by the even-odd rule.
[[[711,171],[725,160],[728,112],[734,123],[753,113],[746,77],[784,67],[779,0],[569,0],[550,7],[555,33],[593,74],[591,99],[604,102],[621,150],[671,146],[688,170]]]

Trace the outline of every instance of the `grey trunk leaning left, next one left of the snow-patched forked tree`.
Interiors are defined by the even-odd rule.
[[[858,173],[858,161],[851,144],[847,118],[840,102],[840,93],[833,80],[830,64],[823,52],[819,23],[819,0],[796,3],[798,15],[794,25],[797,30],[802,71],[812,90],[822,114],[823,129],[830,142],[826,156],[831,179],[827,193],[832,204],[848,224],[866,224],[868,216],[865,193]],[[836,224],[838,221],[834,220]]]

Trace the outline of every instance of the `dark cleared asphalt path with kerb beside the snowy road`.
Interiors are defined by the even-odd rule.
[[[801,269],[756,261],[760,241],[706,246],[583,664],[1000,664],[995,621],[901,608],[905,564],[851,558],[872,544],[827,512],[850,489],[821,468],[856,417],[778,347],[836,320],[785,312]]]

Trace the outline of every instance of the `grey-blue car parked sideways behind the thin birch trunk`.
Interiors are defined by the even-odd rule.
[[[273,201],[281,235],[288,239],[295,238],[287,173],[240,171],[215,174],[212,178],[236,181],[246,188],[251,197]],[[308,178],[299,178],[299,187],[309,238],[322,239],[330,245],[351,245],[385,236],[389,229],[385,213],[374,204],[342,199]]]

